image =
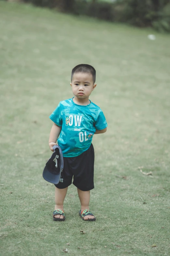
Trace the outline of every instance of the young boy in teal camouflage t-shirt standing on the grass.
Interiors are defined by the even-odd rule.
[[[96,87],[95,78],[96,71],[91,65],[80,64],[74,67],[70,83],[74,97],[61,101],[50,115],[50,119],[54,122],[49,138],[50,150],[53,151],[52,147],[57,145],[57,141],[64,158],[60,182],[55,184],[53,220],[56,221],[65,220],[63,203],[72,178],[81,203],[80,217],[83,220],[95,220],[94,215],[89,211],[90,190],[94,188],[92,136],[104,133],[107,129],[103,112],[89,100],[90,94]]]

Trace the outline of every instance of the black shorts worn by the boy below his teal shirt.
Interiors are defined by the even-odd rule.
[[[88,150],[77,157],[63,157],[64,168],[61,172],[60,181],[54,184],[57,188],[66,188],[72,183],[82,191],[94,188],[94,148],[93,145]]]

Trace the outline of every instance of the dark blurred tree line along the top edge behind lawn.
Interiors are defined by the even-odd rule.
[[[36,6],[170,32],[170,0],[23,0]]]

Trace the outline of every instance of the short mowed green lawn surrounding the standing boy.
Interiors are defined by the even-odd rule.
[[[0,3],[0,255],[170,255],[170,36],[151,33]],[[49,115],[79,63],[96,68],[90,99],[108,129],[93,138],[96,221],[80,219],[71,185],[60,223],[42,171]]]

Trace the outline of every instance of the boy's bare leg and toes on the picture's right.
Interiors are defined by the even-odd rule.
[[[90,210],[89,209],[89,202],[90,202],[90,190],[89,191],[82,191],[80,189],[77,189],[78,192],[78,196],[80,199],[80,203],[81,203],[81,212],[84,210]],[[94,216],[92,215],[87,215],[84,217],[85,220],[87,219],[93,219]]]

